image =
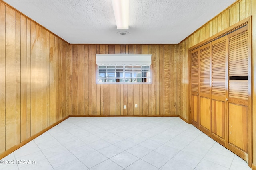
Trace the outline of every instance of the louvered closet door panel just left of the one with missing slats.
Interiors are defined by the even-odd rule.
[[[213,139],[225,146],[226,141],[226,37],[212,45],[212,132]]]

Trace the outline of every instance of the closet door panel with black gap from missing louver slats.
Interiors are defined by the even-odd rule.
[[[228,35],[228,148],[248,160],[248,31]]]

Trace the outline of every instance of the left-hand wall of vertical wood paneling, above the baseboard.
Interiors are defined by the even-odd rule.
[[[71,113],[71,57],[68,43],[0,2],[0,158]]]

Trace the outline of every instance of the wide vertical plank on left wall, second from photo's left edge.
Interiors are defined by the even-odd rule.
[[[5,10],[5,126],[6,149],[10,149],[16,145],[16,13],[9,7]]]

